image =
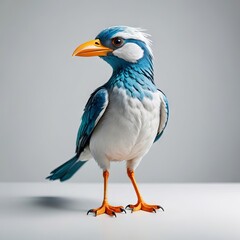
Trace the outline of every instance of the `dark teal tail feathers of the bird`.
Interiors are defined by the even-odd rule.
[[[83,166],[86,161],[78,160],[78,155],[54,169],[46,179],[60,180],[61,182],[68,180],[77,172],[77,170]]]

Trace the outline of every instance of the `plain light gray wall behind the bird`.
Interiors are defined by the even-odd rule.
[[[170,121],[137,169],[142,182],[240,180],[240,1],[0,1],[0,181],[44,181],[73,156],[90,93],[111,68],[72,58],[112,25],[152,35]],[[112,164],[111,181],[128,181]],[[71,181],[99,182],[94,161]]]

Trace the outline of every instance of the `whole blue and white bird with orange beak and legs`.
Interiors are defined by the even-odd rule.
[[[150,35],[141,28],[113,26],[79,45],[72,54],[99,56],[113,70],[109,80],[98,87],[86,103],[74,157],[47,177],[66,181],[94,158],[103,171],[104,194],[101,206],[90,209],[87,214],[116,216],[116,213],[126,213],[125,209],[132,212],[164,210],[160,205],[144,201],[135,179],[137,166],[162,136],[169,118],[167,97],[154,82],[151,43]],[[118,161],[126,162],[126,172],[137,196],[137,203],[126,208],[108,202],[110,163]]]

